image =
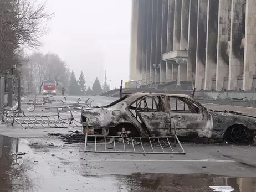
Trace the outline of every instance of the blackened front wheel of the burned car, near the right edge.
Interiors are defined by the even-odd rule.
[[[235,126],[230,132],[231,141],[237,144],[244,144],[250,141],[248,129],[244,126]]]

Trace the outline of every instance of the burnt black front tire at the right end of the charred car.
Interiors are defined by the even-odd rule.
[[[249,144],[252,138],[252,133],[245,126],[235,125],[229,128],[228,140],[235,144]]]

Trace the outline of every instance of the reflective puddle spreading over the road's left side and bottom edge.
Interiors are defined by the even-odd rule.
[[[67,151],[63,153],[58,147],[51,152],[42,151],[28,144],[25,139],[0,136],[0,191],[256,191],[256,178],[211,174],[90,175],[90,168],[79,162],[75,152],[63,149]],[[16,159],[14,152],[28,154]],[[53,152],[58,157],[52,156]]]

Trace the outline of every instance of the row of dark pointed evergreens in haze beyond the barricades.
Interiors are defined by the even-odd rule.
[[[74,71],[72,71],[68,90],[70,95],[99,95],[103,92],[109,91],[110,87],[106,82],[101,86],[99,79],[96,78],[93,83],[93,87],[88,87],[88,89],[86,89],[86,81],[83,71],[81,71],[78,80],[76,80]]]

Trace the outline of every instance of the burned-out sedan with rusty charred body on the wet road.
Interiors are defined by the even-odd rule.
[[[136,93],[107,106],[85,108],[87,134],[130,137],[252,140],[256,118],[232,111],[211,111],[188,95]]]

